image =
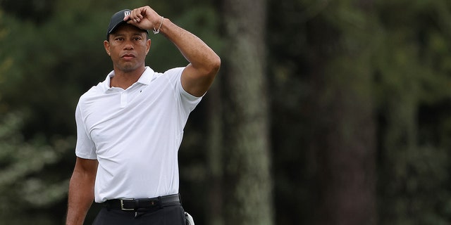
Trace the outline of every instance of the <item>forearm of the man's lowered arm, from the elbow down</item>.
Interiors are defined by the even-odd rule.
[[[93,200],[92,178],[80,172],[74,172],[69,184],[66,225],[82,225]]]

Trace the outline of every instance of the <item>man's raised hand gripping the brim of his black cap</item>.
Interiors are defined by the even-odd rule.
[[[132,10],[130,15],[125,16],[124,21],[142,30],[158,30],[162,18],[150,6],[142,6]]]

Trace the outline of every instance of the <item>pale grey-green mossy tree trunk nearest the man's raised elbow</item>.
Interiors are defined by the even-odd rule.
[[[265,18],[266,1],[223,1],[224,224],[273,224]]]

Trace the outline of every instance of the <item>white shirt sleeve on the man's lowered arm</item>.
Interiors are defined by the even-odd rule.
[[[75,122],[77,124],[77,145],[75,146],[75,155],[79,158],[89,160],[97,159],[94,141],[92,141],[85,129],[80,103],[78,103],[77,108],[75,109]]]

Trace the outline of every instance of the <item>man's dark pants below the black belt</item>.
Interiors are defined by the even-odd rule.
[[[185,225],[185,211],[181,205],[172,205],[158,210],[108,210],[105,207],[97,214],[92,225]]]

